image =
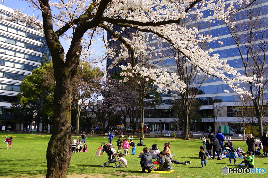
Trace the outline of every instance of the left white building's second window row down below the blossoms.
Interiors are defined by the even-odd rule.
[[[33,44],[23,42],[20,40],[15,40],[13,38],[8,38],[8,37],[2,36],[2,35],[0,35],[0,41],[7,42],[10,44],[14,44],[14,45],[18,45],[18,46],[21,46],[24,48],[32,49],[32,50],[39,51],[42,53],[50,54],[49,49],[48,49],[46,44],[44,44],[45,47],[40,47],[40,46],[33,45]]]

